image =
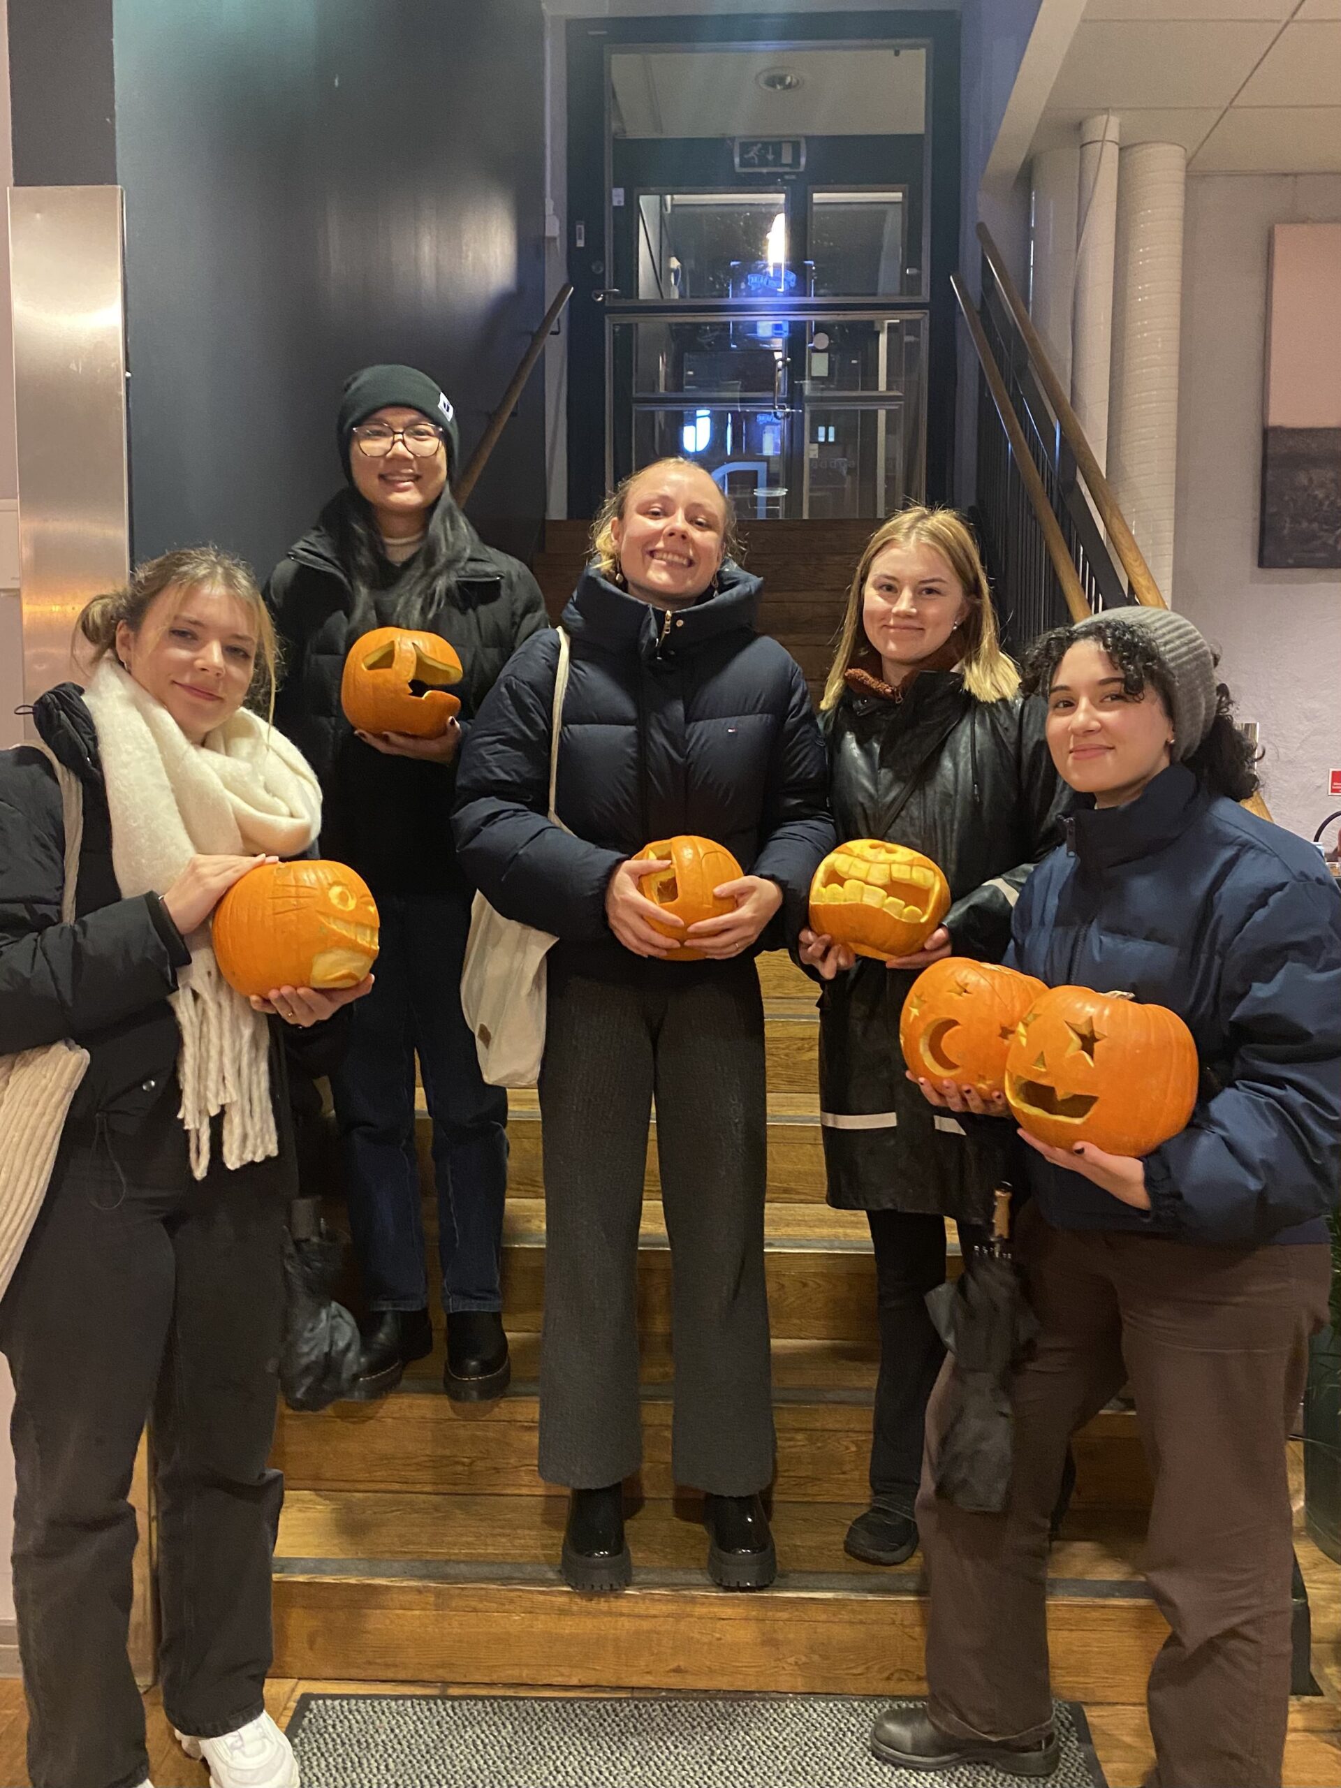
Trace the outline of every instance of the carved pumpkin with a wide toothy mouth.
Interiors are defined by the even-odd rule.
[[[840,844],[810,883],[810,928],[878,962],[921,949],[948,912],[949,885],[932,858],[883,839]]]

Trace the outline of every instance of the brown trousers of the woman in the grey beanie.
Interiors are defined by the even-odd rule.
[[[1051,1228],[1021,1214],[1016,1257],[1042,1332],[1014,1387],[1005,1514],[935,1495],[942,1373],[917,1522],[932,1588],[930,1713],[957,1738],[1041,1738],[1048,1516],[1067,1439],[1132,1380],[1155,1495],[1146,1577],[1171,1632],[1150,1672],[1148,1788],[1278,1788],[1289,1715],[1286,1439],[1327,1246],[1207,1248]]]

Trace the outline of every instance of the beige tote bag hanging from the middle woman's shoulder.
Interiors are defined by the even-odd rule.
[[[558,629],[554,704],[549,719],[549,817],[558,787],[558,740],[569,688],[569,635]],[[533,1087],[545,1053],[545,957],[558,939],[501,912],[476,894],[461,969],[461,1010],[476,1033],[479,1071],[492,1087]]]

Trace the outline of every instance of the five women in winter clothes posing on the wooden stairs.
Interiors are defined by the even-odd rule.
[[[476,889],[556,937],[540,1470],[570,1491],[569,1584],[617,1590],[633,1572],[622,1482],[640,1463],[653,1105],[674,1477],[703,1491],[713,1581],[774,1579],[753,957],[789,948],[819,985],[830,1200],[867,1210],[876,1255],[873,1495],[846,1545],[898,1563],[921,1539],[932,1590],[930,1700],[885,1715],[876,1754],[1055,1770],[1050,1516],[1071,1432],[1130,1379],[1155,1480],[1148,1575],[1171,1627],[1150,1781],[1278,1783],[1286,1438],[1325,1320],[1341,1155],[1341,898],[1316,853],[1237,805],[1255,778],[1205,640],[1169,611],[1123,610],[1044,637],[1021,683],[969,529],[910,510],[856,567],[817,721],[797,665],[755,629],[760,583],[699,467],[660,461],[611,495],[551,629],[529,574],[452,499],[456,424],[431,379],[365,368],[338,447],[345,488],[265,597],[236,560],[191,549],[80,615],[86,687],[50,690],[34,722],[79,780],[82,842],[48,758],[0,755],[0,1051],[89,1051],[0,1302],[34,1788],[147,1784],[125,1640],[150,1411],[168,1718],[216,1788],[297,1788],[263,1700],[291,1067],[334,1092],[367,1296],[354,1395],[384,1395],[431,1348],[417,1058],[443,1384],[470,1400],[508,1382],[506,1098],[460,1005]],[[343,721],[345,653],[384,624],[458,647],[463,708],[442,738]],[[728,910],[688,928],[642,889],[669,862],[635,862],[679,833],[744,869],[719,889]],[[953,903],[915,957],[853,960],[810,928],[812,876],[849,837],[944,869]],[[218,976],[209,915],[257,860],[315,846],[372,887],[375,976],[245,1001]],[[951,953],[1178,1010],[1202,1058],[1187,1128],[1141,1160],[1025,1150],[999,1107],[910,1080],[901,1007]],[[933,1489],[942,1346],[924,1295],[944,1278],[944,1219],[971,1252],[992,1191],[1025,1178],[1017,1257],[1041,1334],[1014,1384],[1007,1513],[973,1514]]]

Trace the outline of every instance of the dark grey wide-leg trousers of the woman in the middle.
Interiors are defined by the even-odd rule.
[[[595,1489],[642,1461],[638,1216],[653,1098],[674,1278],[674,1479],[742,1497],[771,1482],[774,1463],[763,1003],[749,960],[654,992],[551,976],[540,1475]]]

